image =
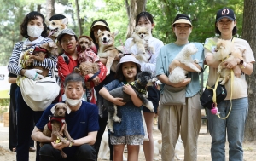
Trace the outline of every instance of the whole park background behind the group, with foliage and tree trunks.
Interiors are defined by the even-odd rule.
[[[188,14],[192,20],[193,32],[190,42],[204,43],[207,37],[217,36],[214,32],[215,14],[218,9],[229,7],[236,13],[237,34],[248,41],[256,53],[256,1],[255,0],[0,0],[0,121],[3,113],[8,111],[9,98],[6,66],[16,42],[22,40],[20,23],[32,10],[45,15],[46,19],[53,14],[67,16],[68,27],[77,35],[89,35],[92,21],[107,20],[112,32],[119,31],[115,45],[119,46],[131,36],[135,26],[135,17],[141,11],[148,11],[154,16],[153,36],[165,44],[172,43],[175,35],[172,32],[172,20],[176,14]],[[202,76],[207,81],[207,72]],[[245,141],[256,140],[256,72],[247,76],[249,114],[246,124]],[[2,94],[3,93],[3,94]],[[3,96],[4,95],[4,96]],[[6,98],[7,97],[7,98]]]

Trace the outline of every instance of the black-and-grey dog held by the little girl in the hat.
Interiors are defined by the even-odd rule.
[[[156,81],[156,78],[152,78],[151,72],[143,71],[137,74],[137,79],[135,81],[128,83],[136,92],[137,97],[141,101],[143,101],[143,106],[146,106],[151,112],[154,112],[154,106],[151,101],[148,101],[148,99],[146,99],[146,88],[149,85],[153,85],[154,81]],[[113,89],[109,92],[109,94],[112,95],[114,98],[123,98],[124,102],[131,101],[131,96],[123,91],[123,87]],[[104,99],[103,105],[108,110],[108,129],[113,133],[113,121],[121,122],[121,118],[117,116],[117,106],[106,99]]]

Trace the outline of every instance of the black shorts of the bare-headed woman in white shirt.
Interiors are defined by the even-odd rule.
[[[154,106],[154,113],[157,113],[157,108],[160,101],[160,91],[156,89],[154,85],[148,87],[148,100],[152,101]],[[143,112],[150,112],[150,110],[148,110],[146,106],[143,106]]]

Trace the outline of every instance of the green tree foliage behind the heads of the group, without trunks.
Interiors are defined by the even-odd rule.
[[[16,42],[20,41],[20,23],[25,15],[37,4],[42,4],[45,10],[45,0],[9,0],[3,1],[0,6],[0,66],[7,66],[9,56]],[[130,1],[129,1],[130,2]],[[77,14],[74,0],[55,0],[61,3],[63,9],[58,14],[69,15],[68,27],[78,33]],[[30,4],[30,5],[27,5]],[[243,0],[148,0],[146,11],[154,15],[153,36],[165,44],[175,41],[172,32],[172,21],[177,14],[189,14],[193,23],[193,32],[189,37],[191,42],[204,43],[207,37],[214,37],[215,14],[218,9],[229,7],[236,12],[238,35],[241,35],[243,18]],[[80,18],[82,20],[83,34],[89,35],[90,25],[94,20],[103,19],[108,22],[111,32],[119,31],[115,45],[120,40],[125,43],[128,26],[128,15],[125,1],[119,0],[79,0]],[[61,13],[60,13],[61,12]],[[44,13],[43,13],[44,14]]]

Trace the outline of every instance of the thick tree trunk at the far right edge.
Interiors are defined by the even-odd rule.
[[[256,28],[253,27],[256,24],[256,1],[245,0],[243,9],[243,24],[242,24],[242,38],[246,39],[253,49],[253,53],[256,53]],[[255,57],[255,55],[254,55]],[[248,101],[249,111],[247,116],[247,123],[245,127],[245,141],[256,140],[256,69],[253,66],[253,73],[251,76],[247,76],[248,83]]]

